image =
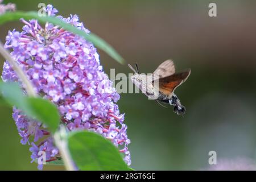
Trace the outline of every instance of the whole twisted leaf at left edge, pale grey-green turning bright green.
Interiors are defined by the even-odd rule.
[[[28,117],[44,123],[53,133],[59,126],[59,111],[50,101],[25,96],[19,85],[14,82],[0,82],[0,92],[7,104],[18,107]]]

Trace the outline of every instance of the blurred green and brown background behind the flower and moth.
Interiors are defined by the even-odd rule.
[[[134,169],[204,169],[208,152],[217,159],[256,160],[256,1],[4,1],[18,10],[37,11],[38,3],[51,3],[59,14],[78,14],[92,32],[125,57],[137,62],[141,72],[152,73],[167,59],[176,70],[191,68],[187,82],[176,89],[187,108],[184,117],[143,94],[121,94],[131,139]],[[210,2],[217,17],[208,16]],[[8,30],[22,23],[1,26],[4,42]],[[105,72],[131,73],[99,51]],[[1,57],[1,68],[3,64]],[[11,110],[0,108],[0,169],[36,170],[28,146],[20,137]],[[47,166],[44,169],[63,169]]]

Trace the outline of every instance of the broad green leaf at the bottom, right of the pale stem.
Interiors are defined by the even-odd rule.
[[[127,170],[117,147],[104,137],[89,131],[78,131],[68,138],[71,156],[81,170]]]

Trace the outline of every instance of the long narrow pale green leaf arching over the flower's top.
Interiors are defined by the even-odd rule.
[[[14,20],[19,20],[20,18],[30,20],[30,19],[37,19],[39,22],[50,22],[52,24],[58,25],[60,27],[63,27],[65,30],[73,32],[74,34],[80,35],[84,37],[89,42],[92,42],[94,46],[102,49],[106,53],[108,53],[109,56],[111,56],[113,59],[118,61],[121,64],[125,64],[125,60],[115,51],[115,49],[110,46],[108,43],[105,42],[105,40],[102,40],[100,37],[93,33],[87,34],[86,32],[77,29],[76,27],[73,27],[71,24],[65,23],[63,20],[59,18],[55,18],[52,16],[38,16],[38,13],[36,12],[23,12],[23,11],[15,11],[15,12],[7,12],[0,16],[0,24],[11,22]]]

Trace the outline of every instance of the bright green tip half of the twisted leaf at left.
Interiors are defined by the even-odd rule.
[[[38,121],[46,124],[49,130],[54,133],[60,123],[60,115],[56,106],[50,101],[38,97],[28,97],[27,102],[30,106],[28,113]]]

